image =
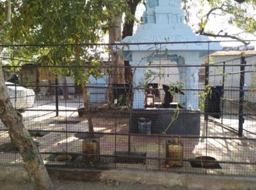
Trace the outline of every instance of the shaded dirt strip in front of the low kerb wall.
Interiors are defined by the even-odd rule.
[[[140,183],[119,183],[118,181],[53,181],[56,190],[187,190],[184,187],[165,187],[163,185],[150,185]],[[3,190],[34,190],[32,183],[7,183],[2,182],[0,189]],[[198,189],[194,189],[198,190]]]

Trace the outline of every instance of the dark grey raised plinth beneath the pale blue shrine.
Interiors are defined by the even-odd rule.
[[[177,117],[173,119],[175,115]],[[141,117],[151,120],[151,134],[160,134],[166,130],[167,134],[200,135],[200,111],[179,109],[177,113],[177,109],[172,108],[135,109],[130,124],[131,133],[139,133],[138,121]]]

